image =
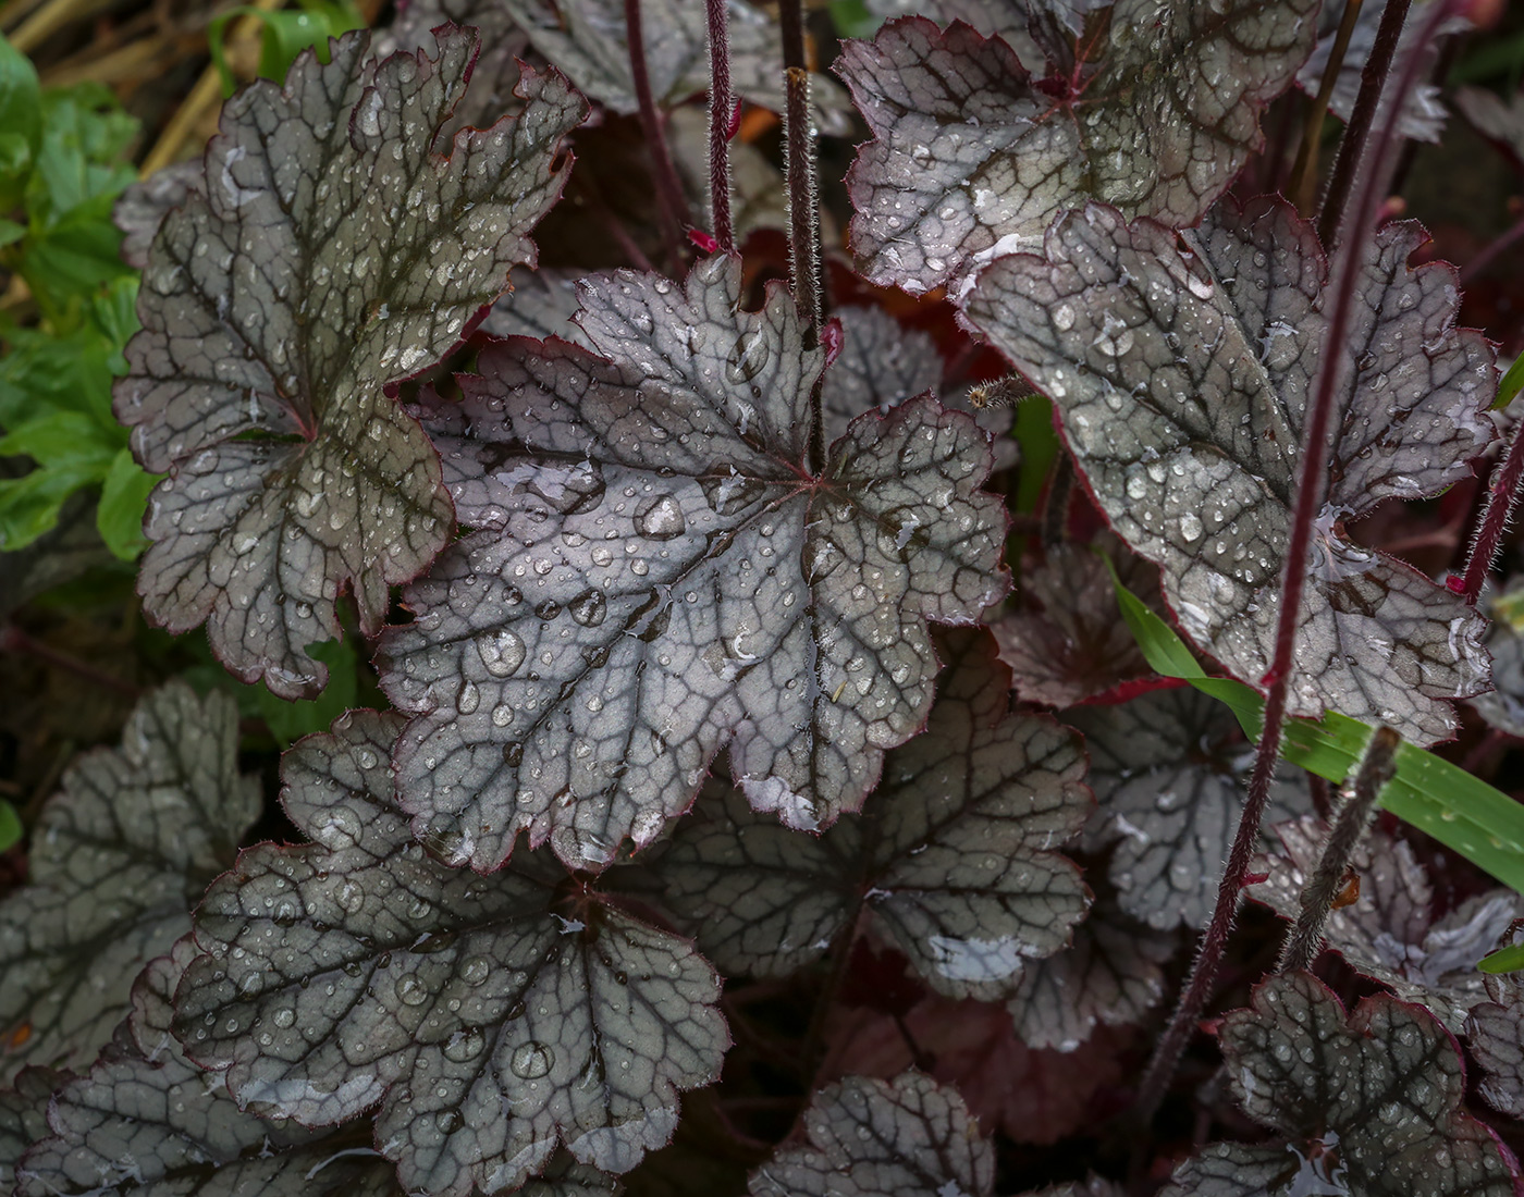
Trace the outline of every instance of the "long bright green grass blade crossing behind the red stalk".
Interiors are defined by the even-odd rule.
[[[1114,585],[1122,617],[1149,666],[1166,678],[1181,678],[1225,702],[1237,716],[1244,734],[1257,742],[1263,728],[1263,697],[1242,682],[1209,678],[1164,620],[1120,582]],[[1370,736],[1369,725],[1337,711],[1329,711],[1320,722],[1289,719],[1280,755],[1308,772],[1341,783],[1359,763]],[[1398,748],[1396,763],[1396,777],[1382,790],[1381,806],[1524,894],[1524,806],[1410,743]]]

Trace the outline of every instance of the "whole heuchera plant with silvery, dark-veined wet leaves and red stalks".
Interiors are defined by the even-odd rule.
[[[143,614],[264,690],[27,812],[0,1192],[1524,1194],[1468,14],[832,9],[413,0],[128,190]]]

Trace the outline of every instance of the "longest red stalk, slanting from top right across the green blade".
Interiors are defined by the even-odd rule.
[[[1405,0],[1391,0],[1407,9]],[[1449,14],[1452,0],[1440,0],[1433,6],[1423,27],[1423,40],[1433,40],[1440,21]],[[1388,6],[1390,12],[1390,6]],[[1398,30],[1401,34],[1401,29]],[[1291,515],[1291,538],[1286,545],[1286,562],[1280,582],[1280,609],[1276,617],[1276,650],[1271,658],[1269,694],[1265,699],[1265,728],[1254,751],[1254,771],[1250,775],[1248,798],[1239,818],[1233,847],[1228,851],[1227,868],[1218,886],[1212,921],[1201,937],[1186,991],[1170,1016],[1154,1058],[1149,1060],[1138,1084],[1137,1112],[1143,1121],[1154,1116],[1164,1096],[1164,1087],[1175,1074],[1181,1054],[1190,1040],[1201,1013],[1207,1008],[1227,949],[1233,923],[1237,917],[1239,897],[1244,889],[1248,865],[1259,842],[1259,827],[1265,818],[1269,789],[1276,778],[1276,763],[1280,757],[1280,740],[1286,723],[1286,690],[1295,667],[1297,617],[1301,611],[1301,595],[1308,580],[1308,556],[1312,548],[1312,530],[1323,509],[1327,490],[1329,433],[1338,407],[1343,379],[1344,355],[1338,352],[1349,337],[1355,309],[1355,283],[1364,254],[1364,239],[1370,231],[1388,171],[1387,158],[1396,145],[1398,120],[1402,116],[1402,101],[1411,93],[1419,76],[1419,55],[1411,55],[1404,67],[1387,119],[1379,134],[1364,146],[1355,203],[1347,206],[1338,227],[1340,253],[1334,259],[1334,277],[1329,283],[1332,308],[1327,337],[1318,356],[1318,373],[1312,381],[1312,402],[1303,429],[1301,461],[1297,469],[1295,504]],[[1369,82],[1369,79],[1367,79]],[[1366,84],[1361,84],[1362,93]],[[1356,105],[1358,107],[1358,105]],[[1373,107],[1373,105],[1372,105]]]

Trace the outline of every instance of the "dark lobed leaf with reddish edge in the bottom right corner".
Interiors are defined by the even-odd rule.
[[[1161,1197],[1513,1197],[1512,1160],[1465,1113],[1455,1042],[1423,1010],[1367,998],[1352,1016],[1308,973],[1274,976],[1227,1016],[1234,1096],[1285,1147],[1215,1144]]]

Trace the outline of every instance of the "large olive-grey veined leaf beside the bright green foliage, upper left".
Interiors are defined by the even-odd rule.
[[[338,634],[341,588],[375,632],[387,586],[443,547],[439,460],[384,384],[533,260],[527,233],[565,177],[552,161],[585,113],[559,76],[526,75],[517,120],[440,157],[475,37],[379,64],[367,37],[224,108],[206,177],[154,239],[116,391],[139,460],[171,472],[149,503],[146,611],[177,632],[206,621],[235,673],[285,697],[322,688],[306,646]]]

